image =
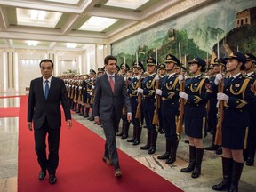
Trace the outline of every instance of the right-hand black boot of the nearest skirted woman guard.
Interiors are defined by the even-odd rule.
[[[244,163],[238,163],[236,161],[233,161],[231,184],[230,184],[229,192],[238,192],[238,182],[241,178],[243,168],[244,168]]]

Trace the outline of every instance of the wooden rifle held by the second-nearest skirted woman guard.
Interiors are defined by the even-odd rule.
[[[183,80],[180,82],[180,92],[184,92],[185,91],[185,76],[183,74],[182,68],[181,68],[181,74],[183,75]],[[184,105],[185,105],[185,99],[180,98],[180,114],[178,117],[177,127],[176,127],[176,131],[179,133],[182,132],[182,130],[183,130]]]

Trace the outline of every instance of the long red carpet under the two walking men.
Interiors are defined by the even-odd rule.
[[[56,175],[58,181],[50,185],[48,175],[39,181],[40,168],[36,161],[33,132],[28,131],[26,122],[27,100],[27,97],[21,97],[20,100],[19,192],[182,191],[121,150],[118,154],[124,176],[116,179],[113,166],[101,160],[105,140],[75,120],[72,129],[68,130],[64,118],[60,137],[60,164]]]

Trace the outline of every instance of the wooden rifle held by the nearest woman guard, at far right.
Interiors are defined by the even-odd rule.
[[[218,60],[218,62],[219,62],[219,65],[220,65],[220,60]],[[221,68],[221,65],[220,65],[220,73],[221,73],[221,71],[222,71],[222,68]],[[223,81],[223,78],[222,78],[221,81],[218,84],[218,92],[223,92],[223,88],[224,88],[224,81]],[[221,142],[222,142],[221,129],[222,129],[222,121],[223,121],[223,118],[224,118],[223,106],[224,106],[224,101],[219,100],[219,107],[218,107],[218,114],[217,114],[218,123],[216,125],[216,135],[215,135],[215,141],[214,141],[215,145],[221,145]]]

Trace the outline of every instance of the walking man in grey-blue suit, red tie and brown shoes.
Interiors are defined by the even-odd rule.
[[[128,121],[132,120],[132,108],[123,76],[116,72],[116,58],[109,55],[104,60],[106,73],[97,78],[94,98],[94,120],[102,123],[106,136],[103,161],[114,164],[115,177],[121,177],[116,149],[116,132],[122,116],[123,105],[127,111]]]

